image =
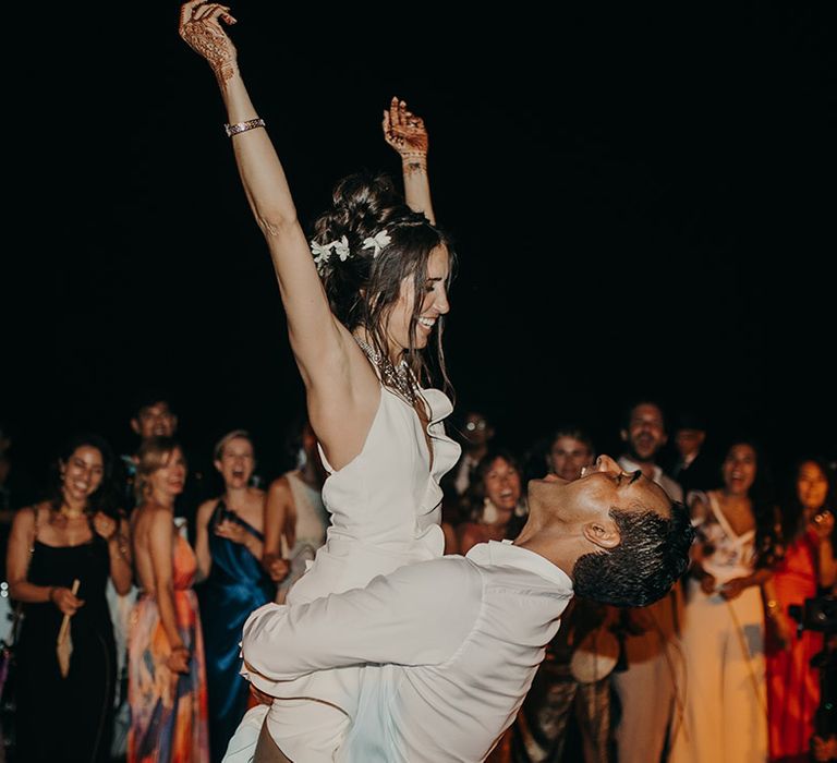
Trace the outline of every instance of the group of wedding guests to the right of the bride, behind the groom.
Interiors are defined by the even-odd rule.
[[[662,407],[632,404],[620,428],[619,463],[642,470],[689,506],[696,541],[687,577],[648,607],[577,598],[492,760],[574,754],[587,763],[700,763],[835,754],[827,707],[837,681],[833,665],[828,673],[824,664],[835,646],[834,622],[829,634],[804,623],[800,613],[805,601],[835,593],[834,464],[802,456],[772,469],[752,438],[707,448],[701,417],[671,419],[669,443]],[[480,540],[514,537],[507,534],[509,505],[523,474],[536,476],[539,464],[574,480],[595,459],[584,429],[562,427],[522,453],[534,465],[518,468],[509,480],[508,455],[486,441],[490,421],[482,413],[463,421],[466,436],[476,433],[460,461],[473,462],[472,483],[459,482],[457,510],[447,512],[463,538],[474,534],[474,512]],[[459,550],[466,549],[468,540]],[[574,746],[567,752],[571,728]]]

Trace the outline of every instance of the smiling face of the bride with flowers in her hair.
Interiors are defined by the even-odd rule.
[[[440,245],[434,249],[427,258],[427,275],[422,294],[416,295],[412,276],[401,281],[398,301],[386,320],[390,356],[410,348],[411,331],[415,349],[427,347],[439,316],[450,311],[447,289],[449,275],[450,256],[447,247]],[[421,300],[420,317],[417,322],[413,322],[416,299]]]

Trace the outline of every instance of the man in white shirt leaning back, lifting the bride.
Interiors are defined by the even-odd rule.
[[[533,480],[529,506],[513,544],[478,544],[363,589],[257,609],[244,626],[245,675],[282,698],[284,681],[366,666],[360,695],[329,698],[350,719],[336,761],[483,761],[514,719],[573,594],[651,604],[686,570],[692,541],[686,508],[607,456],[574,482]],[[246,732],[244,724],[227,760],[247,760],[235,754]],[[288,760],[266,727],[259,760]]]

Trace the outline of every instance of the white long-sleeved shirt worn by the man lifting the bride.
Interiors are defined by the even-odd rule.
[[[245,675],[282,697],[283,681],[364,666],[360,695],[338,680],[329,698],[351,718],[337,761],[474,763],[514,719],[571,597],[544,557],[481,543],[310,604],[266,604],[244,625]]]

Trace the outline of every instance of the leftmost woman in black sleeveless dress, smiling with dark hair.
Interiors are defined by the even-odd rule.
[[[12,525],[7,574],[24,607],[16,752],[27,763],[109,760],[116,657],[105,588],[109,577],[119,593],[131,585],[126,523],[102,510],[111,465],[100,437],[73,438],[52,498],[21,509]],[[65,677],[56,649],[64,616],[72,644]]]

